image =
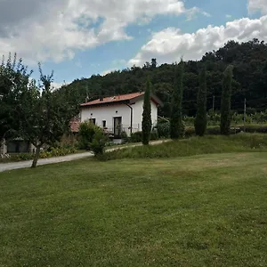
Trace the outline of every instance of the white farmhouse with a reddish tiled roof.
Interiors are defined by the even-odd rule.
[[[100,98],[81,104],[81,122],[91,120],[95,125],[106,129],[114,138],[119,138],[122,132],[130,135],[142,131],[142,110],[144,93],[128,93]],[[157,124],[158,106],[162,102],[151,95],[152,125]]]

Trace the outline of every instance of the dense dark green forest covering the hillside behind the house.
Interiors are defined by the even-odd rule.
[[[93,75],[89,78],[74,80],[61,90],[69,98],[79,102],[93,100],[101,95],[109,96],[121,93],[144,91],[146,79],[150,77],[152,91],[164,102],[159,115],[170,116],[170,101],[174,89],[174,65],[162,64],[157,60],[145,62],[142,68],[113,71],[104,77]],[[206,65],[207,109],[220,110],[223,71],[232,64],[233,85],[231,109],[243,111],[247,99],[247,111],[255,112],[267,109],[267,44],[258,39],[239,44],[230,41],[217,51],[203,55],[200,61],[184,63],[184,93],[182,112],[195,116],[197,110],[198,74]]]

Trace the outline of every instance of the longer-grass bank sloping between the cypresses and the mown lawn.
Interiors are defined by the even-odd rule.
[[[100,159],[121,158],[174,158],[210,153],[267,151],[266,134],[235,134],[230,136],[206,135],[164,142],[155,146],[140,146],[114,150]]]

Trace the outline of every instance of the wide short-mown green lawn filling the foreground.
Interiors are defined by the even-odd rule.
[[[0,266],[267,266],[267,153],[0,173]]]

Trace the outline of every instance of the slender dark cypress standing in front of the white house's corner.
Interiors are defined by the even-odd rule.
[[[146,91],[144,93],[144,100],[143,100],[143,111],[142,111],[142,143],[144,145],[148,145],[150,143],[150,133],[152,127],[150,92],[151,92],[150,78],[147,78]]]

